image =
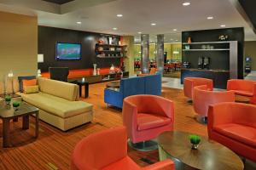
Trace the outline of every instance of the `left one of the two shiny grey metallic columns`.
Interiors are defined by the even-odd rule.
[[[148,73],[149,61],[149,34],[142,34],[141,37],[141,70],[143,73]]]

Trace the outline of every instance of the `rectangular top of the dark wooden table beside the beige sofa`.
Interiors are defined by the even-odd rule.
[[[37,107],[23,101],[20,103],[17,111],[14,110],[12,103],[10,105],[6,105],[4,100],[0,101],[0,118],[2,119],[11,119],[18,116],[24,116],[35,111],[38,111]]]

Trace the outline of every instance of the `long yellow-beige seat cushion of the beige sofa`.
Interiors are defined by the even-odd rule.
[[[81,113],[92,111],[92,105],[83,101],[70,101],[50,94],[39,92],[38,94],[21,94],[27,103],[35,105],[41,110],[50,112],[55,116],[67,118]]]

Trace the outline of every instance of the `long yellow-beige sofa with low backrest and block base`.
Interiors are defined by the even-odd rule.
[[[15,91],[16,83],[15,81]],[[79,101],[78,85],[39,77],[38,86],[40,92],[37,94],[17,94],[27,103],[40,109],[39,118],[44,122],[67,131],[92,121],[92,105]]]

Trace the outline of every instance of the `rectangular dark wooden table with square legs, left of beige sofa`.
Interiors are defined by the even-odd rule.
[[[0,118],[3,120],[3,147],[10,146],[9,139],[9,123],[12,119],[17,119],[22,116],[22,129],[29,128],[29,116],[32,114],[36,115],[36,127],[35,127],[35,137],[38,138],[38,108],[27,104],[26,102],[21,102],[17,111],[11,105],[6,105],[5,101],[0,101]]]

